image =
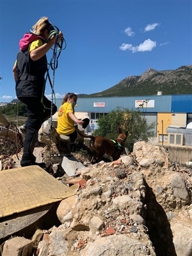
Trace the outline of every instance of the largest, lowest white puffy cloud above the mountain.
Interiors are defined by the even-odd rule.
[[[145,40],[143,43],[141,43],[138,46],[133,46],[132,44],[122,44],[119,48],[122,51],[132,51],[134,52],[146,52],[146,51],[152,51],[154,47],[156,47],[156,42],[152,41],[150,39]]]

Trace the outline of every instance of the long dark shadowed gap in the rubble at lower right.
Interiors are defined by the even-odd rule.
[[[157,202],[152,188],[145,184],[145,204],[147,211],[145,216],[148,235],[152,241],[157,256],[177,256],[173,244],[173,234],[170,223],[163,207]]]

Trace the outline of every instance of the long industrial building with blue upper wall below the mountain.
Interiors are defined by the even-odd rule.
[[[61,106],[62,99],[56,99]],[[192,145],[192,94],[132,97],[78,98],[75,107],[77,118],[90,118],[91,129],[97,129],[97,120],[117,107],[143,111],[147,122],[155,124],[159,143]]]

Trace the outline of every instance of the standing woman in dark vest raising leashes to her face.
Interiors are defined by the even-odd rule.
[[[46,53],[54,45],[56,38],[56,34],[49,38],[52,28],[53,25],[47,17],[38,20],[33,26],[32,33],[26,33],[20,40],[20,51],[13,66],[16,95],[21,102],[26,104],[28,111],[28,120],[23,125],[26,129],[26,136],[21,166],[38,164],[45,167],[44,163],[35,163],[36,157],[33,155],[33,150],[40,127],[57,110],[56,105],[44,95],[44,76],[47,71]],[[57,38],[56,43],[59,43],[63,38],[61,31],[58,32]]]

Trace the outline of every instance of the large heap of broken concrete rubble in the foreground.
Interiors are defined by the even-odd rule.
[[[143,141],[115,162],[73,161],[64,156],[58,163],[64,174],[56,179],[76,191],[58,205],[60,225],[10,238],[2,256],[192,255],[190,168]]]

